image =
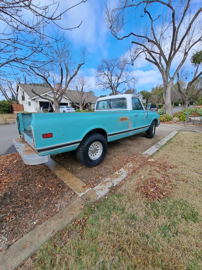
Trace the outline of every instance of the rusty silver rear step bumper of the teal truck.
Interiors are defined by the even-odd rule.
[[[13,139],[13,144],[20,154],[23,162],[28,165],[37,165],[48,162],[50,155],[40,156],[28,143],[22,138]]]

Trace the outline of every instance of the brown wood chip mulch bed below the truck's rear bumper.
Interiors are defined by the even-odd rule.
[[[0,252],[77,199],[45,164],[0,156]]]

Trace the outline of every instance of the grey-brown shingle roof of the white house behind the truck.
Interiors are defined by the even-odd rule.
[[[39,95],[42,95],[46,92],[51,91],[49,87],[41,86],[41,85],[31,85],[31,84],[24,84],[24,83],[18,83],[18,85],[30,98],[34,98],[36,96],[34,93],[32,93],[31,91],[32,89]],[[78,102],[79,93],[78,91],[75,91],[75,90],[66,90],[64,93],[64,96],[69,98],[70,101]],[[98,98],[92,94],[89,94],[88,92],[83,92],[82,101],[84,99],[86,102],[96,102]]]

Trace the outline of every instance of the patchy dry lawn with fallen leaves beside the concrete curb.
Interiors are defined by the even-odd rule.
[[[202,134],[178,133],[46,242],[32,268],[201,269],[201,153]]]

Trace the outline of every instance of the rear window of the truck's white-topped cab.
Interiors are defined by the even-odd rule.
[[[126,98],[111,98],[97,102],[96,110],[127,109]]]

